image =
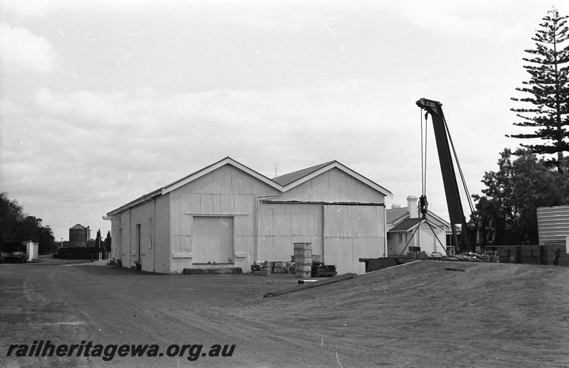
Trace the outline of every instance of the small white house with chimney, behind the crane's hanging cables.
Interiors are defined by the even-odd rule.
[[[427,254],[447,254],[450,223],[432,212],[423,219],[417,196],[407,197],[407,207],[392,205],[385,211],[385,222],[388,256],[405,255],[408,247],[420,247]]]

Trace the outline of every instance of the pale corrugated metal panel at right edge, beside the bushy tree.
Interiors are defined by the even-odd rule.
[[[539,244],[565,242],[569,237],[569,206],[537,209]]]

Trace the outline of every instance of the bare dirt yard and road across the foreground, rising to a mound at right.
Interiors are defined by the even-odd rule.
[[[418,261],[263,298],[297,279],[46,262],[0,265],[1,367],[569,366],[568,268]],[[16,356],[42,340],[159,350]]]

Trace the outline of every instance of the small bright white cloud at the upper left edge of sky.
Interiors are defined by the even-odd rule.
[[[55,50],[28,28],[0,23],[0,68],[2,73],[46,74],[55,69]]]

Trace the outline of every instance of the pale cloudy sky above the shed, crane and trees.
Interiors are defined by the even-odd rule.
[[[448,220],[415,102],[442,102],[481,194],[521,143],[505,136],[523,132],[510,98],[553,6],[569,14],[541,0],[0,0],[0,191],[58,241],[75,224],[105,237],[107,212],[227,156],[268,178],[336,160],[390,190],[390,208],[422,195],[423,126],[425,195]]]

